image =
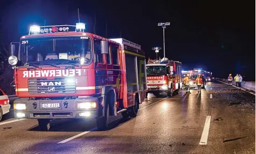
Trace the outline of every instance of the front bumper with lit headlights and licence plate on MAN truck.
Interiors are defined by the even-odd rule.
[[[17,119],[90,119],[102,115],[98,99],[94,97],[67,100],[18,99],[13,107]]]

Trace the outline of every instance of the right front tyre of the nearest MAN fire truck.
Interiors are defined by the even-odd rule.
[[[109,104],[106,104],[105,116],[97,119],[98,130],[108,130],[109,128]]]

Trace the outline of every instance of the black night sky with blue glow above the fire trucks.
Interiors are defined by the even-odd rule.
[[[87,32],[141,45],[147,58],[163,57],[183,63],[183,69],[203,68],[215,77],[241,74],[255,80],[255,2],[248,1],[78,1],[8,0],[0,2],[0,40],[8,47],[29,32],[31,24],[86,23]],[[107,23],[107,24],[106,24]],[[107,28],[106,28],[107,25]],[[106,29],[108,30],[106,32]]]

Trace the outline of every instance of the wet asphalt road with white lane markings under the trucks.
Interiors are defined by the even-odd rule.
[[[255,153],[255,96],[223,83],[202,94],[150,95],[136,118],[111,121],[108,131],[95,120],[58,120],[40,131],[10,112],[0,122],[0,153]]]

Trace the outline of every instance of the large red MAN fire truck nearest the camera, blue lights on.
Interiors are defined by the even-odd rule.
[[[73,30],[72,30],[73,29]],[[137,116],[146,93],[145,52],[125,39],[106,39],[76,26],[31,26],[9,63],[15,69],[15,118],[96,118],[108,129],[109,116]],[[16,47],[17,48],[17,47]]]

